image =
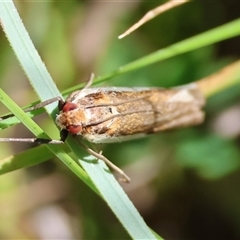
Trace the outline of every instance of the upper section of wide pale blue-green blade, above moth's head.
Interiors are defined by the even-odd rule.
[[[40,89],[40,91],[44,93],[39,97],[44,101],[53,96],[60,96],[60,92],[52,81],[50,74],[26,32],[13,2],[2,1],[0,4],[3,29],[24,72],[29,79],[35,79],[35,81],[30,81],[30,83],[33,85],[34,89]],[[52,112],[54,106],[48,105],[46,109],[48,112]]]

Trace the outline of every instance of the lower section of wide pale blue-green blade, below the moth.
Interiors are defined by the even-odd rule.
[[[74,150],[76,156],[79,159],[84,158],[82,156],[82,151],[73,138],[69,139],[71,147]],[[124,219],[124,227],[132,236],[133,239],[155,239],[156,236],[149,230],[149,228],[144,223],[142,217],[134,207],[131,201],[129,201],[128,196],[119,187],[119,183],[112,174],[109,172],[108,167],[103,163],[103,161],[96,162],[96,159],[92,156],[85,157],[87,161],[81,161],[83,168],[91,175],[91,179],[96,184],[96,186],[101,189],[102,197],[111,207],[114,209],[116,217],[121,221]],[[92,162],[89,164],[89,162]],[[103,187],[102,187],[103,186]],[[131,230],[131,231],[130,231]],[[159,237],[159,239],[162,239]]]

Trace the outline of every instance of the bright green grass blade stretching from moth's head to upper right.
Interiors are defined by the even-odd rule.
[[[131,63],[128,63],[116,70],[114,70],[111,73],[102,75],[100,77],[97,77],[94,81],[94,83],[101,83],[108,79],[111,79],[117,75],[121,75],[130,71],[134,71],[137,69],[140,69],[142,67],[146,67],[150,64],[166,60],[170,57],[177,56],[182,53],[187,53],[192,50],[196,50],[201,47],[208,46],[213,43],[217,43],[219,41],[223,41],[225,39],[235,37],[240,35],[240,19],[234,20],[230,23],[224,24],[220,27],[214,28],[212,30],[209,30],[207,32],[198,34],[194,37],[185,39],[181,42],[178,42],[176,44],[173,44],[171,46],[168,46],[166,48],[160,49],[156,52],[153,52],[151,54],[148,54],[147,56],[144,56],[136,61],[133,61]],[[79,89],[82,86],[82,84],[76,85],[74,87],[71,87],[65,91],[63,91],[64,94],[68,94],[69,92],[75,91]]]

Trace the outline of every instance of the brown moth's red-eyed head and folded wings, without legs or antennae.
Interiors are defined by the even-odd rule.
[[[67,98],[56,122],[90,142],[118,142],[199,124],[204,102],[196,84],[172,89],[88,88]]]

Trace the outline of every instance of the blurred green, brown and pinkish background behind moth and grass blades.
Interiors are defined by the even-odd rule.
[[[156,1],[16,2],[60,90],[109,73],[153,51],[239,18],[240,3],[197,1],[117,36]],[[20,105],[37,100],[3,32],[0,84]],[[171,87],[239,59],[240,37],[111,79],[102,86]],[[201,126],[97,146],[131,177],[124,184],[146,223],[166,239],[240,238],[239,86],[208,99]],[[7,110],[1,106],[0,114]],[[35,118],[47,133],[53,123]],[[55,128],[54,128],[55,129]],[[31,137],[20,124],[1,137]],[[1,144],[1,158],[34,145]],[[0,238],[129,239],[108,206],[57,159],[0,177]]]

